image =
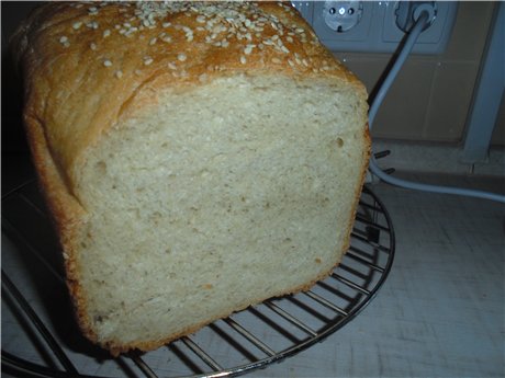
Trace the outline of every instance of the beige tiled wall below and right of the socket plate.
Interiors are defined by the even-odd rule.
[[[481,58],[497,3],[459,2],[447,50],[412,55],[378,114],[377,138],[459,144],[479,77]],[[391,54],[336,53],[370,93],[385,71]],[[493,145],[505,146],[504,103]]]

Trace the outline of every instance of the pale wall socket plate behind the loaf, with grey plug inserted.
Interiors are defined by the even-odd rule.
[[[293,1],[319,39],[334,51],[393,53],[405,36],[407,1]],[[441,54],[456,20],[456,1],[434,4],[431,23],[417,39],[413,54]],[[350,11],[349,11],[350,10]],[[402,18],[405,19],[402,21]]]

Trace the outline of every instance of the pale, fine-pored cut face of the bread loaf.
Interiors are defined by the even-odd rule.
[[[216,79],[104,135],[77,184],[98,333],[177,334],[326,275],[361,180],[352,101],[324,82]]]

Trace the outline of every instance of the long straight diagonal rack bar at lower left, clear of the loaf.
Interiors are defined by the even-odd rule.
[[[47,345],[50,347],[56,358],[58,358],[61,366],[71,375],[78,375],[76,367],[71,360],[67,357],[65,352],[61,350],[59,344],[56,342],[54,336],[50,334],[49,330],[45,327],[41,318],[35,313],[33,308],[30,306],[27,300],[23,297],[21,291],[18,290],[15,285],[9,278],[5,272],[2,270],[2,286],[12,295],[12,297],[18,301],[18,305],[23,309],[24,313],[30,318],[33,325],[37,329],[41,335],[44,337]]]

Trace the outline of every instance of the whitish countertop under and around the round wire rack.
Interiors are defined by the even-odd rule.
[[[16,168],[2,171],[4,190],[30,176],[18,159],[8,161]],[[503,176],[407,176],[505,193]],[[374,192],[396,233],[395,263],[378,296],[323,343],[250,376],[505,376],[505,206],[382,183]]]

